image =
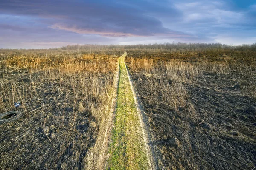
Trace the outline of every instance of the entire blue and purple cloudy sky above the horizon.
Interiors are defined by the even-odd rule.
[[[0,48],[256,42],[256,0],[0,0]]]

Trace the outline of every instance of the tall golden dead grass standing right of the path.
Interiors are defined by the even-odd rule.
[[[128,58],[130,69],[134,72],[143,72],[147,81],[146,89],[150,104],[154,103],[154,98],[161,98],[162,101],[171,108],[179,111],[188,108],[193,111],[193,106],[189,102],[189,92],[186,85],[196,83],[198,76],[205,72],[218,74],[231,74],[233,70],[239,75],[249,75],[251,93],[255,96],[255,74],[253,65],[239,64],[230,61],[181,61],[178,59],[150,59],[150,58]],[[240,81],[238,77],[238,81]]]

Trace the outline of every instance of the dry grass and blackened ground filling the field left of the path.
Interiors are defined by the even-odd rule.
[[[84,167],[109,105],[116,61],[92,55],[2,59],[0,111],[14,110],[19,101],[24,116],[1,125],[1,167]]]

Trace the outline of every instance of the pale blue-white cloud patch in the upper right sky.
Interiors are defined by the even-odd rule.
[[[248,5],[237,8],[234,4],[233,0],[176,1],[175,7],[182,11],[183,18],[165,26],[170,29],[179,27],[180,31],[198,35],[206,42],[209,42],[207,41],[209,38],[212,42],[225,43],[228,37],[237,44],[239,38],[236,37],[243,37],[243,42],[251,42],[252,37],[256,37],[256,31],[253,31],[256,29],[256,20],[252,17],[252,7]],[[249,29],[250,36],[247,32]]]

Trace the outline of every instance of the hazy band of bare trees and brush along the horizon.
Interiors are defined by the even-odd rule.
[[[93,56],[121,56],[124,51],[128,57],[152,57],[192,55],[217,60],[224,56],[239,59],[256,59],[256,43],[244,45],[225,45],[220,43],[164,43],[138,45],[67,45],[49,49],[0,49],[0,57],[79,57],[84,54]]]

